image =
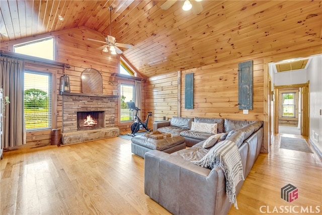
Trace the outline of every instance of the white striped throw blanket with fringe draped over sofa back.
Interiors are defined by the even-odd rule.
[[[238,209],[236,185],[245,178],[240,154],[235,143],[229,140],[218,142],[200,161],[192,161],[192,163],[209,169],[218,165],[226,177],[227,198]]]

